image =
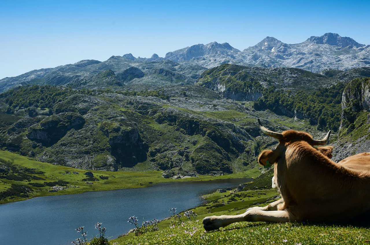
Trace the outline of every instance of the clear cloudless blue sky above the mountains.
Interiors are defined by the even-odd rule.
[[[0,79],[82,59],[150,57],[194,44],[240,50],[325,32],[370,44],[370,1],[0,1]]]

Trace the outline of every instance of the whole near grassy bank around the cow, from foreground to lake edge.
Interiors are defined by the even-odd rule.
[[[266,189],[270,175],[257,178],[256,182],[236,194],[212,193],[204,206],[192,209],[198,217],[191,221],[182,217],[170,227],[171,220],[161,221],[159,231],[135,237],[133,233],[111,241],[114,245],[144,244],[369,244],[370,233],[366,227],[351,225],[326,225],[304,223],[238,222],[218,231],[205,232],[202,219],[209,215],[240,214],[251,206],[265,206],[277,200],[276,190]],[[263,188],[263,189],[256,189]],[[222,202],[225,205],[222,206]],[[227,203],[229,202],[229,203]],[[189,231],[193,234],[189,234]],[[109,234],[109,231],[108,233]]]

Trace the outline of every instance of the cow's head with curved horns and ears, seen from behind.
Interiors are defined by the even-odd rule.
[[[325,145],[328,142],[329,136],[331,133],[331,131],[329,130],[329,132],[327,132],[326,136],[323,139],[313,139],[312,136],[310,134],[307,134],[306,132],[287,130],[282,133],[277,133],[277,132],[271,131],[262,125],[259,118],[258,118],[258,124],[259,124],[260,130],[264,134],[279,140],[279,145],[276,146],[275,150],[273,151],[264,150],[258,156],[259,164],[265,167],[269,167],[273,165],[274,163],[276,163],[288,145],[294,142],[297,142],[297,141],[305,141],[312,146]],[[333,150],[332,146],[322,146],[316,149],[320,151],[321,153],[323,153],[323,155],[327,156],[328,158],[332,157],[332,150]]]

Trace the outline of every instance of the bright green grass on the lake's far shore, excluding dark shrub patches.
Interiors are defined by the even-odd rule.
[[[125,188],[137,188],[146,187],[153,183],[161,182],[173,182],[173,181],[206,181],[213,179],[230,179],[230,178],[246,178],[246,177],[256,177],[259,172],[252,169],[248,172],[240,172],[231,175],[223,176],[199,176],[191,177],[185,179],[164,179],[162,178],[161,171],[142,171],[142,172],[111,172],[111,171],[98,171],[98,170],[83,170],[75,169],[60,165],[53,165],[50,163],[38,162],[32,158],[27,158],[24,156],[17,155],[8,151],[0,151],[0,165],[7,163],[18,168],[26,167],[36,170],[41,170],[44,173],[34,174],[34,176],[44,178],[45,180],[7,180],[0,179],[0,191],[8,189],[11,184],[19,184],[32,188],[33,192],[29,193],[29,198],[40,197],[40,196],[51,196],[51,195],[62,195],[62,194],[76,194],[83,193],[85,191],[103,191],[103,190],[116,190]],[[82,179],[87,176],[84,175],[85,172],[90,171],[94,174],[94,177],[98,181],[83,181]],[[78,172],[79,174],[73,174],[72,172]],[[99,176],[107,176],[108,179],[100,179]],[[58,180],[64,180],[68,182],[68,189],[60,190],[58,192],[49,192],[51,187],[33,187],[28,183],[44,183],[44,182],[54,182]],[[88,184],[87,182],[93,183]],[[77,187],[71,187],[77,186]],[[8,203],[11,201],[24,200],[22,197],[7,197],[6,199],[0,200],[0,203]]]

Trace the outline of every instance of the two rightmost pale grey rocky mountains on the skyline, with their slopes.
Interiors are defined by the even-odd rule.
[[[259,44],[240,53],[243,63],[262,67],[293,67],[311,72],[323,69],[347,70],[369,66],[369,45],[351,38],[326,33],[310,37],[299,44],[285,44],[267,37]]]

